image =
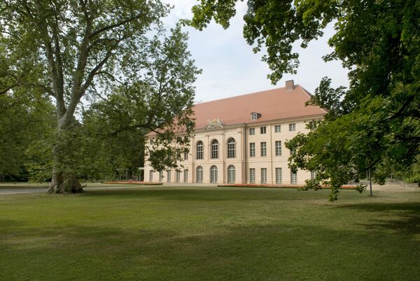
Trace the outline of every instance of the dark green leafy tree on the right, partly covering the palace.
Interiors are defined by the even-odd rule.
[[[188,21],[203,29],[214,19],[223,27],[235,15],[237,0],[202,0]],[[349,69],[349,89],[332,89],[324,78],[309,103],[329,110],[307,136],[288,143],[290,167],[318,171],[308,188],[339,188],[367,171],[384,182],[390,166],[418,173],[420,142],[420,3],[416,0],[248,0],[244,37],[267,62],[278,82],[299,65],[293,43],[306,48],[332,23],[334,49]],[[416,172],[417,171],[417,172]],[[419,178],[412,175],[412,178]]]

